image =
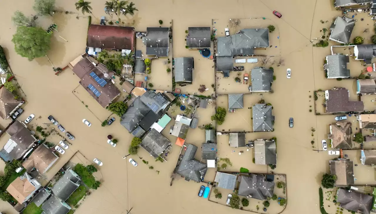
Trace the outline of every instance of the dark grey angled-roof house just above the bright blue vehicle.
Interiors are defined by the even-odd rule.
[[[208,170],[206,164],[194,159],[196,151],[197,146],[192,144],[186,145],[185,153],[175,169],[175,172],[184,177],[186,181],[201,182]]]

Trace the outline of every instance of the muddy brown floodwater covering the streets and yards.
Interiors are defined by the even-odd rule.
[[[56,0],[56,7],[61,11],[77,12],[74,3],[74,0]],[[317,190],[320,186],[322,173],[329,172],[328,161],[332,157],[329,157],[327,152],[317,152],[312,151],[312,149],[317,149],[321,146],[319,142],[327,138],[329,124],[334,122],[334,116],[315,116],[314,111],[309,111],[314,106],[314,91],[332,89],[334,86],[346,87],[350,90],[350,99],[356,99],[355,80],[337,81],[325,78],[323,62],[325,57],[331,54],[330,47],[312,47],[311,43],[311,39],[321,36],[321,29],[329,27],[333,18],[341,14],[333,8],[332,1],[309,0],[302,4],[302,1],[299,0],[138,0],[134,3],[139,10],[135,13],[135,16],[132,18],[121,15],[120,18],[125,24],[134,23],[133,26],[137,32],[145,32],[147,27],[159,27],[158,20],[164,21],[163,27],[169,27],[169,22],[173,20],[173,48],[170,46],[168,58],[155,59],[152,62],[152,73],[148,83],[153,84],[153,89],[172,89],[172,72],[166,71],[171,66],[166,64],[167,59],[194,57],[193,84],[182,87],[176,85],[176,88],[180,88],[182,93],[197,93],[205,96],[214,93],[221,94],[217,98],[217,106],[226,109],[228,107],[227,94],[249,93],[247,85],[239,85],[234,81],[237,72],[232,72],[229,78],[224,79],[223,76],[221,77],[221,73],[215,73],[213,60],[200,56],[197,50],[185,48],[185,30],[188,27],[213,28],[212,19],[214,19],[217,36],[223,36],[229,18],[265,17],[265,20],[242,21],[238,28],[230,29],[231,34],[242,27],[265,28],[269,24],[276,27],[276,30],[269,34],[270,45],[273,45],[273,47],[267,48],[267,50],[256,50],[258,54],[273,56],[271,61],[284,59],[284,65],[281,66],[271,65],[271,62],[265,65],[265,67],[273,66],[276,76],[272,85],[274,93],[263,93],[265,103],[270,103],[273,106],[274,132],[247,133],[246,140],[277,137],[278,164],[273,172],[286,175],[288,204],[284,213],[319,213]],[[98,18],[106,15],[103,11],[104,4],[105,1],[92,0],[93,24],[98,24]],[[111,112],[103,109],[96,100],[92,99],[92,96],[80,86],[80,78],[71,69],[67,68],[57,76],[46,57],[29,62],[26,58],[15,53],[14,44],[11,40],[16,27],[12,24],[11,17],[16,10],[24,12],[25,15],[35,14],[32,11],[32,5],[32,0],[0,2],[0,6],[6,8],[0,14],[2,20],[0,45],[5,50],[15,78],[27,95],[25,97],[26,104],[23,105],[25,113],[19,119],[22,121],[31,113],[35,114],[36,118],[41,116],[40,119],[32,121],[31,124],[35,128],[36,125],[49,122],[47,117],[53,115],[76,137],[70,149],[66,154],[61,155],[57,163],[48,171],[47,176],[52,177],[58,172],[77,150],[82,154],[80,161],[83,163],[86,163],[87,160],[92,162],[94,158],[99,158],[104,163],[99,169],[102,176],[101,187],[85,199],[85,202],[76,210],[76,214],[126,214],[126,210],[130,208],[133,208],[132,214],[245,213],[197,197],[201,184],[196,182],[187,182],[183,178],[178,178],[170,187],[171,173],[176,166],[181,149],[180,146],[175,145],[176,137],[169,134],[170,126],[174,124],[174,118],[162,131],[162,134],[172,143],[172,150],[167,162],[156,162],[147,151],[139,149],[138,156],[149,161],[149,166],[153,166],[154,169],[149,169],[146,164],[141,163],[141,159],[136,155],[130,157],[139,163],[138,167],[133,167],[127,163],[127,160],[122,157],[128,154],[132,134],[129,134],[120,125],[118,116],[115,116],[116,121],[111,126],[101,127],[100,124],[111,115]],[[283,14],[283,17],[281,19],[275,17],[272,14],[273,10],[279,11]],[[78,15],[82,16],[81,13]],[[51,49],[47,53],[56,67],[65,67],[85,52],[88,19],[86,17],[76,19],[76,16],[77,14],[62,12],[56,13],[52,17],[39,17],[36,20],[42,28],[51,23],[58,24],[59,32],[53,33]],[[109,15],[107,15],[107,18],[111,19]],[[112,16],[112,20],[117,20],[116,15]],[[329,22],[322,24],[320,20],[328,20]],[[366,21],[368,24],[372,23],[370,18],[365,15],[364,24],[367,24]],[[356,24],[351,40],[358,36],[359,33],[355,33],[358,26],[360,32],[365,28],[363,24]],[[373,26],[369,26],[369,28],[370,31],[373,31]],[[370,33],[366,33],[363,36],[368,38],[370,35]],[[136,42],[139,42],[138,40]],[[365,44],[368,42],[365,41]],[[137,48],[145,48],[142,44],[139,45],[138,43]],[[330,45],[338,44],[329,42]],[[146,53],[143,51],[143,54]],[[246,70],[239,75],[240,78],[243,80],[244,73],[250,74],[250,69],[255,66],[260,65],[247,63]],[[291,79],[286,78],[287,68],[291,68]],[[359,69],[359,71],[356,69]],[[352,69],[352,76],[359,75],[361,69],[362,67]],[[144,74],[136,74],[135,76],[135,81],[143,81],[145,77]],[[216,77],[219,78],[216,79]],[[115,79],[115,82],[119,82],[118,78]],[[211,87],[215,83],[219,84],[215,88],[216,92]],[[199,93],[197,89],[201,84],[205,84],[209,90]],[[148,86],[148,88],[150,87]],[[233,113],[227,113],[224,124],[217,125],[217,131],[252,131],[252,110],[248,107],[256,104],[260,98],[257,93],[244,95],[244,108]],[[323,112],[321,106],[323,98],[323,96],[319,96],[322,101],[319,100],[320,102],[318,102],[318,112]],[[371,99],[374,99],[374,96],[365,96],[362,99],[367,99],[370,102]],[[368,110],[374,109],[374,103],[365,105],[368,105]],[[177,113],[182,113],[179,111],[177,108],[175,113],[171,113],[170,109],[168,113],[170,116],[176,116]],[[211,123],[210,116],[214,112],[215,108],[212,105],[208,105],[206,109],[198,109],[199,125]],[[294,118],[294,128],[288,127],[288,119],[291,117]],[[82,119],[90,121],[92,126],[84,125]],[[351,121],[353,120],[355,118],[351,118]],[[7,122],[2,121],[0,123],[2,126],[4,124],[7,124]],[[314,136],[311,136],[311,127],[316,129]],[[355,132],[355,127],[353,125],[353,132]],[[116,148],[106,142],[108,134],[118,139]],[[58,143],[57,138],[56,140],[52,138],[52,140],[54,140],[54,143]],[[310,143],[311,140],[315,141],[314,148]],[[0,140],[0,146],[3,146],[5,142],[6,140]],[[205,130],[190,129],[186,142],[198,147],[196,159],[200,160],[201,144],[205,142]],[[232,168],[228,169],[229,171],[239,171],[240,167],[246,167],[250,172],[270,172],[267,166],[252,163],[252,152],[238,155],[241,149],[230,148],[228,136],[218,136],[217,142],[217,157],[230,158],[233,163]],[[235,150],[235,152],[232,152],[232,150]],[[87,160],[84,160],[84,158]],[[0,168],[3,169],[3,165],[0,164]],[[205,181],[214,181],[214,176],[215,169],[209,169]],[[368,177],[365,179],[368,181]],[[222,200],[225,200],[224,197]],[[250,209],[255,209],[256,204],[251,204],[252,202],[253,200],[250,202]],[[6,214],[17,213],[11,205],[3,201],[0,201],[0,211]]]

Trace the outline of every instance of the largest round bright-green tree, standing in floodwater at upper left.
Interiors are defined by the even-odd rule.
[[[36,57],[46,56],[50,50],[51,35],[41,27],[17,27],[12,42],[17,54],[27,57],[30,61]]]

